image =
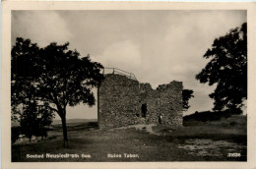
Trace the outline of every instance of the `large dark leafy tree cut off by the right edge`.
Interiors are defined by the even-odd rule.
[[[217,84],[215,91],[209,95],[215,100],[214,110],[240,110],[243,100],[247,99],[246,23],[215,39],[204,58],[211,60],[196,75],[196,80],[203,84]]]

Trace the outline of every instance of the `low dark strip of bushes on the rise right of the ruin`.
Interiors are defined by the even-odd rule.
[[[236,112],[230,111],[230,110],[224,110],[224,111],[202,111],[202,112],[195,112],[194,114],[187,115],[183,117],[183,121],[216,121],[220,120],[222,118],[228,118],[231,115],[234,114],[241,114],[241,111],[237,110]]]

